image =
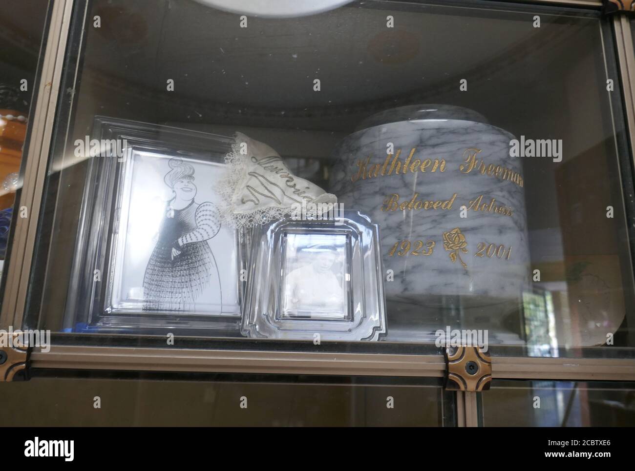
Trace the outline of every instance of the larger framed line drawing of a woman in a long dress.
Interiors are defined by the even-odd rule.
[[[232,139],[98,117],[67,331],[239,335],[242,237],[215,186]]]

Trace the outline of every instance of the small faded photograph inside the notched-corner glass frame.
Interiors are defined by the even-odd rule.
[[[286,234],[281,317],[349,320],[347,236]]]

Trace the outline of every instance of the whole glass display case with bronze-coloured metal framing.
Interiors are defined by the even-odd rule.
[[[42,1],[0,316],[32,379],[0,397],[173,375],[192,411],[304,391],[258,425],[634,425],[635,38],[605,3]],[[393,387],[425,413],[358,410]]]

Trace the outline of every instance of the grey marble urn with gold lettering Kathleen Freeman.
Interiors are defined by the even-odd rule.
[[[334,151],[330,192],[380,226],[389,312],[450,302],[492,315],[522,303],[530,266],[514,136],[450,105],[387,110],[358,129]]]

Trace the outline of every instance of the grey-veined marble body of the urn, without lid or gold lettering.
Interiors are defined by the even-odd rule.
[[[469,110],[467,110],[469,111]],[[519,299],[528,284],[529,249],[526,228],[525,192],[523,187],[496,176],[483,175],[478,166],[470,173],[462,173],[466,149],[480,149],[476,162],[482,159],[486,168],[493,164],[523,174],[521,159],[509,156],[509,141],[514,137],[490,124],[462,119],[411,119],[378,124],[357,131],[344,139],[335,150],[336,163],[331,169],[330,192],[346,209],[359,210],[380,226],[384,272],[394,270],[394,281],[385,283],[390,298],[417,299],[426,295],[481,296],[483,303],[493,299]],[[358,178],[360,161],[384,165],[387,143],[394,144],[394,152],[401,149],[399,161],[403,166],[411,149],[411,162],[418,159],[445,159],[445,171],[440,169],[392,175],[371,175]],[[389,166],[384,169],[388,173]],[[372,171],[371,171],[372,173]],[[524,184],[524,183],[523,183]],[[398,209],[383,211],[387,197],[399,195],[399,202],[410,201],[414,194],[421,201],[448,201],[456,194],[451,209]],[[469,206],[479,196],[482,203],[511,208],[512,215],[467,209],[461,217],[461,207]],[[467,252],[452,262],[450,251],[444,248],[443,233],[459,228],[467,242]],[[409,240],[408,255],[389,256],[394,244]],[[412,255],[416,241],[435,242],[431,255]],[[507,256],[478,256],[479,244],[511,247]],[[401,247],[398,246],[396,252]],[[423,298],[421,298],[423,299]]]

